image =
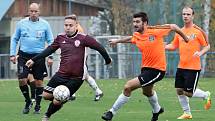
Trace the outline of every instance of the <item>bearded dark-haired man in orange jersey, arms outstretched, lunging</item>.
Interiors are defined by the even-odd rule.
[[[136,32],[134,32],[132,38],[113,39],[110,40],[110,44],[136,44],[142,53],[141,74],[127,81],[122,94],[119,95],[112,108],[102,116],[102,119],[106,121],[112,120],[117,111],[128,102],[132,91],[138,88],[142,88],[143,95],[147,96],[151,104],[153,113],[151,121],[157,121],[158,116],[164,112],[164,109],[158,103],[158,97],[155,90],[153,90],[153,85],[163,79],[166,71],[163,37],[172,30],[180,33],[187,40],[175,24],[162,25],[158,29],[156,27],[149,27],[148,17],[144,12],[133,15],[133,26]]]

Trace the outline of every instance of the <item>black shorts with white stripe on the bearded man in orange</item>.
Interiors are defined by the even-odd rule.
[[[161,71],[154,68],[142,68],[141,74],[138,76],[142,87],[152,85],[163,79],[165,71]]]

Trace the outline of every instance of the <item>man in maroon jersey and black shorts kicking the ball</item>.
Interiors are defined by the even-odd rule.
[[[105,59],[106,64],[111,63],[111,58],[105,48],[89,35],[79,33],[77,20],[73,16],[66,16],[64,21],[65,33],[59,34],[47,49],[41,54],[28,60],[26,65],[32,66],[34,62],[45,58],[57,49],[61,49],[61,61],[58,72],[51,78],[44,88],[43,97],[50,100],[48,110],[42,121],[48,121],[51,115],[61,109],[64,103],[54,99],[53,91],[59,85],[69,88],[70,94],[74,94],[86,78],[86,48],[97,50]]]

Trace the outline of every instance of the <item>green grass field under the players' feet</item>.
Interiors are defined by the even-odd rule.
[[[75,101],[68,102],[64,107],[53,115],[50,121],[102,121],[101,115],[109,109],[118,95],[122,92],[125,80],[97,80],[97,83],[104,92],[104,97],[99,102],[94,102],[94,93],[84,83],[76,93]],[[215,97],[215,79],[200,79],[199,87],[212,92],[212,101]],[[177,117],[182,114],[179,106],[173,79],[164,79],[155,86],[160,104],[165,108],[165,113],[159,121],[177,121]],[[42,113],[22,114],[24,99],[19,91],[17,81],[0,81],[0,121],[41,121],[43,113],[46,111],[49,102],[42,101]],[[213,102],[212,102],[213,103]],[[201,99],[191,99],[192,121],[214,121],[215,106],[206,111],[203,108],[204,102]],[[133,92],[129,102],[122,107],[113,121],[149,121],[151,119],[151,108],[146,97],[141,94],[141,90]]]

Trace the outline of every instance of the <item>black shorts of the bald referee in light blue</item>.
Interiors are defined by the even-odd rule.
[[[45,58],[37,60],[31,68],[25,66],[26,62],[37,54],[27,54],[25,52],[19,51],[18,57],[18,78],[27,78],[28,74],[31,73],[34,79],[43,80],[44,72],[47,72],[45,65]]]

